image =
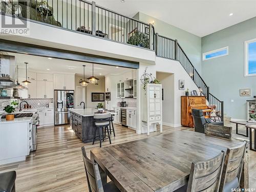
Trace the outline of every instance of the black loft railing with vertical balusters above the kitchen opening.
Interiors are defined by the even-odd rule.
[[[152,26],[83,0],[2,1],[2,14],[16,15],[150,49]],[[152,46],[151,46],[152,45]]]

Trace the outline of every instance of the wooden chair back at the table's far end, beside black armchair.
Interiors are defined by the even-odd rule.
[[[209,123],[206,124],[205,134],[230,140],[232,138],[232,127]]]

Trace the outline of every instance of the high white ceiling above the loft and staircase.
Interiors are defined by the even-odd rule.
[[[203,37],[256,16],[256,0],[95,0],[133,17],[142,12]],[[232,16],[229,16],[233,13]],[[148,21],[151,22],[151,21]]]

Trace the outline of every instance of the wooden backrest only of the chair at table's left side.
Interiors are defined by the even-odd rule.
[[[99,167],[97,163],[92,162],[86,155],[86,150],[82,147],[82,157],[84,168],[86,169],[87,183],[90,192],[104,192]]]

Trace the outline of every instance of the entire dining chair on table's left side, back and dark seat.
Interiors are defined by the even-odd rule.
[[[91,161],[84,147],[82,149],[82,157],[84,168],[86,169],[86,178],[90,192],[118,192],[120,191],[113,181],[102,185],[98,164]]]

